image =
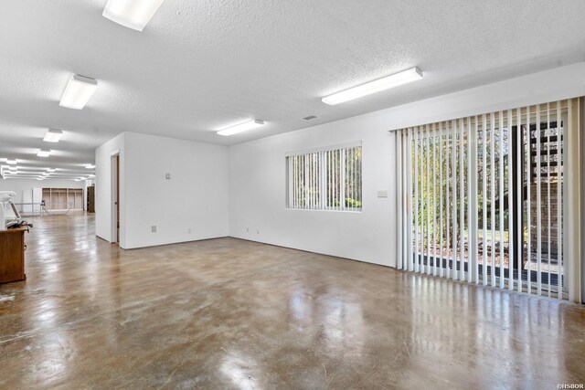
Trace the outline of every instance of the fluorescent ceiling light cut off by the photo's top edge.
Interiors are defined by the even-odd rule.
[[[164,1],[108,0],[101,15],[124,27],[142,31]]]

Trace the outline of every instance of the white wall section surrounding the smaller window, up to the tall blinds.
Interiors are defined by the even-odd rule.
[[[361,213],[285,208],[285,153],[358,140],[363,148]],[[379,199],[376,194],[391,189],[391,140],[388,132],[356,132],[352,121],[343,121],[232,146],[229,235],[390,265],[384,255],[391,248],[388,216],[394,194],[388,191],[388,198]]]

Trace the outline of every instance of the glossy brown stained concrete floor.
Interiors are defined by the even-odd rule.
[[[123,251],[37,218],[0,388],[557,388],[585,307],[233,238]]]

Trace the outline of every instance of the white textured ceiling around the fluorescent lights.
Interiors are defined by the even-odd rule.
[[[585,60],[582,0],[165,0],[143,32],[105,4],[0,3],[0,158],[83,172],[121,132],[229,145]],[[421,81],[321,101],[415,66]],[[81,111],[58,106],[73,74],[99,83]],[[216,133],[249,119],[266,125]]]

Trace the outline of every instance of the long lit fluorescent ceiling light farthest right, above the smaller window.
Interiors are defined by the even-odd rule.
[[[377,93],[382,90],[389,90],[390,88],[398,87],[399,85],[407,84],[418,79],[422,79],[422,72],[420,69],[410,68],[385,78],[370,81],[366,84],[350,88],[349,90],[334,93],[333,95],[324,97],[322,101],[333,106],[345,101],[371,95],[372,93]]]

